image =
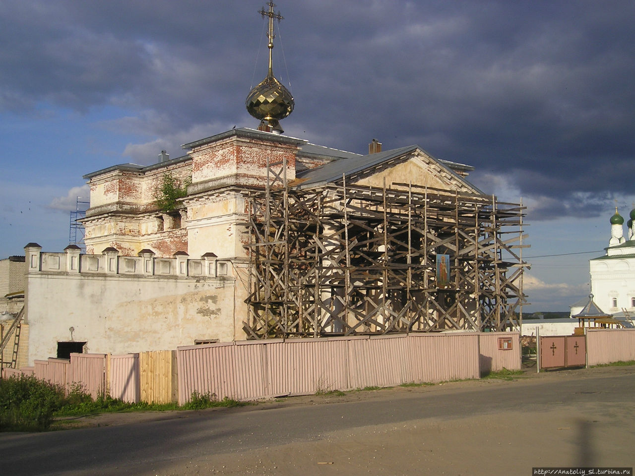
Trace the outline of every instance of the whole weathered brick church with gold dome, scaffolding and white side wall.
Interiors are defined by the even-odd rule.
[[[84,176],[86,253],[25,248],[29,361],[266,338],[518,328],[521,204],[418,145],[368,154],[286,136],[269,72],[254,128]]]

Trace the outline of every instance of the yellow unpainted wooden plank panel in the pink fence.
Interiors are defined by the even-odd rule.
[[[178,399],[177,351],[152,350],[139,354],[140,399],[171,403]]]

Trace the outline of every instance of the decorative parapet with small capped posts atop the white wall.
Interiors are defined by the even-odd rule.
[[[24,250],[29,274],[232,278],[231,261],[219,260],[214,253],[205,253],[196,260],[184,251],[177,251],[173,258],[156,258],[150,249],[142,249],[138,256],[119,256],[119,251],[112,247],[104,249],[102,255],[83,255],[73,245],[67,246],[63,253],[43,253],[37,243],[29,243]]]

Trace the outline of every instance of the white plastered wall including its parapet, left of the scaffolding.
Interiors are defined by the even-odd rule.
[[[127,354],[246,338],[241,263],[25,251],[29,365],[55,357],[59,341],[86,341],[84,352]]]

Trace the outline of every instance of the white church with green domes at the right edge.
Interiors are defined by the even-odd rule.
[[[628,240],[624,238],[624,218],[615,208],[610,218],[611,239],[606,254],[589,260],[591,272],[591,294],[598,307],[613,317],[631,318],[635,315],[635,209],[627,222]],[[571,315],[582,311],[589,298],[584,298],[571,307]]]

